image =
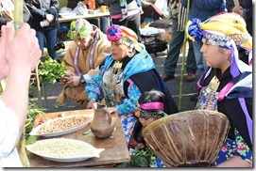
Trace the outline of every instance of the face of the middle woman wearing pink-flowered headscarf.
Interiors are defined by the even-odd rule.
[[[111,42],[112,58],[116,61],[122,61],[128,55],[129,47],[123,44],[122,39]]]

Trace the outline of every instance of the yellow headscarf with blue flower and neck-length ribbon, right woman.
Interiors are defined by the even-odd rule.
[[[252,58],[252,38],[247,32],[245,20],[235,13],[220,13],[201,23],[193,19],[187,24],[188,38],[209,42],[231,50],[231,75],[236,77],[239,71],[251,71],[251,67],[239,60],[237,46],[249,53]]]

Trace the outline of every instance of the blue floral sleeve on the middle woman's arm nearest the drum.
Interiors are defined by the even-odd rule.
[[[139,87],[135,85],[130,79],[128,79],[128,98],[124,99],[122,104],[117,105],[116,109],[119,112],[119,115],[132,114],[133,111],[138,110],[136,103],[138,102],[139,97],[142,95]]]

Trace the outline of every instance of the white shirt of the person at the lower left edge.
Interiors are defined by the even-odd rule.
[[[19,134],[19,120],[15,113],[0,100],[0,166],[22,167],[16,148]],[[14,148],[14,149],[13,149]]]

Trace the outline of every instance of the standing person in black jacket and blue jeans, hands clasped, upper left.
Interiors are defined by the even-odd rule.
[[[26,7],[32,15],[28,23],[37,32],[37,38],[42,54],[43,47],[46,47],[51,58],[56,59],[57,53],[54,47],[56,45],[57,31],[59,27],[59,1],[25,0],[25,2]]]

